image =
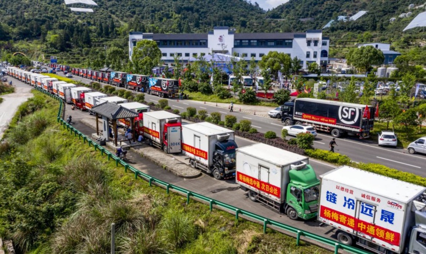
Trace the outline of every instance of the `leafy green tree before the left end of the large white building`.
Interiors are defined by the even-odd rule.
[[[132,54],[134,72],[143,75],[151,74],[152,68],[160,64],[161,55],[161,50],[155,41],[142,40],[137,42]]]

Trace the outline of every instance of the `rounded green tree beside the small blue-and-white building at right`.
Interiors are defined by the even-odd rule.
[[[346,55],[348,63],[355,68],[368,72],[372,65],[380,65],[384,61],[383,52],[373,46],[363,46],[349,51]]]

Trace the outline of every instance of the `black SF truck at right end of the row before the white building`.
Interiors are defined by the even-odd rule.
[[[148,94],[158,95],[161,98],[179,98],[179,80],[150,77]]]

